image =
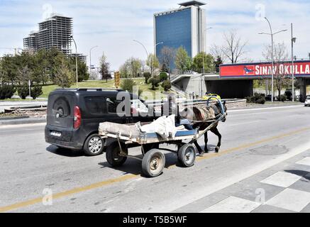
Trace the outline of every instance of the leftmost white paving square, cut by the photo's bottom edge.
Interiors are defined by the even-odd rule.
[[[231,196],[199,213],[250,213],[260,205],[255,201]]]

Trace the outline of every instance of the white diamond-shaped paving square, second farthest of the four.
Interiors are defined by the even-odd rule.
[[[260,183],[271,184],[279,187],[289,187],[301,179],[301,176],[289,172],[276,172],[274,175],[263,179]]]

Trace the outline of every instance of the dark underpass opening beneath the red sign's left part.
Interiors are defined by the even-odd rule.
[[[207,91],[224,99],[244,99],[253,95],[253,80],[212,80],[206,82]]]

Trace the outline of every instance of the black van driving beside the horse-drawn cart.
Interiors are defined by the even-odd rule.
[[[99,123],[149,122],[155,119],[143,100],[131,97],[131,109],[138,103],[148,115],[119,116],[117,106],[121,100],[119,89],[57,89],[48,97],[48,116],[45,127],[45,141],[60,148],[84,150],[86,155],[99,155],[104,151],[105,141],[98,135]],[[134,104],[134,105],[133,105]],[[142,108],[142,109],[143,109]]]

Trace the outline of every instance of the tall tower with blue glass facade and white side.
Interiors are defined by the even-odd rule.
[[[154,46],[159,60],[164,46],[174,49],[182,46],[190,57],[206,51],[206,14],[201,9],[204,5],[200,1],[187,1],[179,4],[179,9],[154,14]]]

